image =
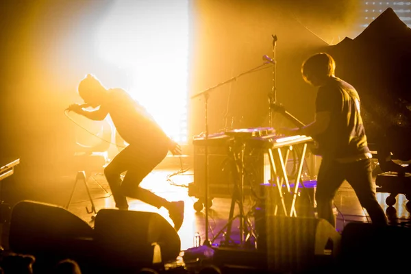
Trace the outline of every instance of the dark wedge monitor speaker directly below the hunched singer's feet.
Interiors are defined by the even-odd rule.
[[[181,247],[177,232],[160,214],[132,210],[99,210],[95,242],[102,258],[123,264],[151,264],[155,244],[162,262],[175,260]]]

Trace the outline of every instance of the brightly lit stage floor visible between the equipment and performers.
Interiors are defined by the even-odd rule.
[[[184,165],[184,167],[185,166],[187,165]],[[197,197],[189,195],[188,186],[190,184],[195,184],[193,169],[190,169],[188,166],[188,169],[184,169],[185,172],[181,172],[182,169],[180,168],[181,166],[179,164],[162,164],[147,175],[140,186],[153,191],[155,194],[160,195],[169,201],[183,200],[185,202],[184,223],[178,231],[181,240],[181,255],[184,255],[184,251],[194,247],[194,238],[197,232],[201,236],[201,243],[206,240],[206,212],[204,208],[201,212],[196,212],[194,204],[198,199]],[[114,199],[102,171],[103,170],[90,172],[86,180],[97,212],[105,208],[114,208]],[[16,175],[18,175],[18,173]],[[66,173],[64,176],[51,176],[49,179],[46,177],[42,179],[34,178],[32,182],[29,182],[27,179],[27,182],[21,185],[21,188],[18,190],[9,189],[10,192],[18,193],[18,197],[14,197],[12,204],[23,199],[29,199],[32,201],[40,201],[66,207],[71,197],[76,176],[77,171],[73,171]],[[8,185],[12,186],[14,183],[16,182],[10,181]],[[7,184],[4,186],[7,186]],[[232,197],[229,190],[227,190],[227,193],[225,194],[215,196],[216,197],[212,199],[212,206],[210,210],[208,210],[208,238],[211,240],[214,247],[219,247],[224,240],[223,232],[226,230],[225,225],[227,225],[229,221]],[[388,197],[388,193],[377,192],[377,200],[384,211],[388,209],[388,206],[386,205],[386,197]],[[249,212],[254,201],[255,200],[251,199],[250,195],[245,196],[245,213]],[[390,219],[390,223],[410,223],[410,213],[406,210],[407,202],[408,200],[405,195],[397,196],[397,202],[390,208],[391,211],[394,210],[396,212]],[[360,206],[355,192],[347,182],[345,182],[338,190],[334,203],[338,212],[338,215],[336,216],[336,229],[339,232],[343,232],[345,226],[350,222],[366,223],[370,221],[368,214],[366,214],[365,210]],[[86,208],[88,208],[88,210],[91,209],[91,202],[88,198],[84,182],[79,181],[77,182],[73,199],[66,210],[75,214],[93,227],[93,214],[90,214]],[[158,208],[149,206],[136,199],[129,199],[129,210],[157,212],[163,216],[166,221],[173,225],[169,218],[169,213],[164,208],[159,210]],[[237,214],[238,205],[236,204],[234,216]],[[251,221],[253,221],[253,218],[251,218]],[[253,225],[255,224],[253,223]],[[230,234],[232,241],[237,244],[240,242],[238,226],[238,219],[236,219],[232,225],[232,233]],[[4,225],[2,227],[4,227]],[[7,248],[7,229],[3,228],[2,234],[2,246]],[[234,247],[238,247],[238,245],[234,245]],[[173,262],[173,265],[183,265],[182,258],[178,258],[177,262]]]

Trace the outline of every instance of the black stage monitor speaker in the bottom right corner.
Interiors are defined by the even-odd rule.
[[[411,227],[347,223],[341,238],[340,266],[368,273],[402,272],[410,260]]]

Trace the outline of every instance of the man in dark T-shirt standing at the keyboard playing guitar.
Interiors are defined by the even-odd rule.
[[[319,218],[335,227],[332,203],[344,180],[378,225],[387,219],[375,197],[371,152],[360,114],[360,97],[353,86],[334,75],[336,64],[327,53],[312,55],[303,63],[303,79],[318,87],[315,121],[305,127],[283,129],[288,135],[312,136],[319,143],[322,160],[316,187]]]

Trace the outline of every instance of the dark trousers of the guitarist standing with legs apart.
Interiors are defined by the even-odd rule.
[[[371,160],[369,159],[346,164],[323,159],[315,195],[319,218],[336,226],[332,203],[338,188],[344,180],[347,180],[356,192],[361,206],[369,213],[371,221],[377,225],[386,225],[386,215],[375,197],[371,174]]]

